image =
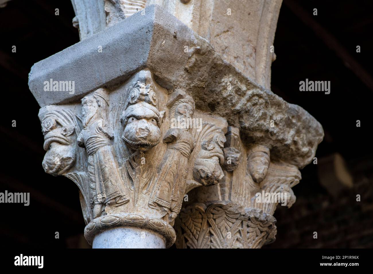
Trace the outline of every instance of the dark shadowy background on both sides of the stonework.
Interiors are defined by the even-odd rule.
[[[305,167],[293,188],[296,203],[276,210],[277,240],[265,248],[373,247],[372,10],[371,0],[283,2],[271,89],[310,112],[323,125],[325,138],[317,149],[318,165]],[[67,178],[44,173],[41,166],[45,152],[39,106],[28,89],[34,63],[79,42],[74,16],[69,0],[12,0],[0,9],[0,192],[31,193],[28,207],[0,204],[3,246],[88,247],[78,188]],[[330,94],[300,92],[299,82],[306,78],[330,81]],[[332,189],[338,191],[332,193],[320,178],[333,174],[333,168],[325,174],[320,165],[333,167],[330,159],[336,153],[344,159],[353,187],[334,180]]]

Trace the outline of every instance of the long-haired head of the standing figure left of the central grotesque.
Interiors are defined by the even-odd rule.
[[[107,118],[107,108],[109,106],[109,95],[104,88],[99,88],[93,93],[88,94],[82,100],[82,122],[86,127],[91,119],[98,117]]]

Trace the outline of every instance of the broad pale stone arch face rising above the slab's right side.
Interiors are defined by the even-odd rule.
[[[273,40],[282,0],[148,0],[206,39],[245,76],[270,88]]]

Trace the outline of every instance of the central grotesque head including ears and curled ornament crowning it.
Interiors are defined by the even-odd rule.
[[[146,151],[160,142],[164,111],[160,112],[156,106],[153,84],[135,82],[129,92],[127,108],[120,116],[124,127],[122,139],[131,149]]]

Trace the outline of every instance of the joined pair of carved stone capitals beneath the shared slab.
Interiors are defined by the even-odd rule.
[[[272,159],[267,144],[245,146],[239,129],[217,117],[202,115],[193,127],[201,115],[194,99],[179,89],[160,92],[149,70],[126,86],[40,111],[43,168],[78,185],[88,242],[118,226],[151,229],[167,247],[175,240],[178,248],[272,242],[279,201],[258,202],[257,193],[286,193],[290,207],[298,168]]]

